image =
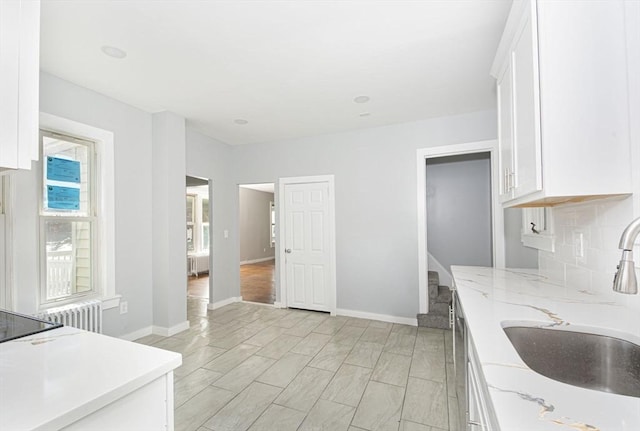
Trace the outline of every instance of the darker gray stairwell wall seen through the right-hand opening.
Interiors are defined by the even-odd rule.
[[[492,265],[489,153],[427,159],[427,249],[451,265]]]

